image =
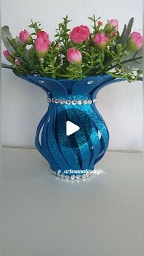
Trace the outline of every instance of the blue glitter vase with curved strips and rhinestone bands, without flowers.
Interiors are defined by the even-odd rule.
[[[123,79],[110,75],[81,81],[32,75],[21,78],[45,90],[48,97],[48,111],[38,125],[35,145],[52,173],[72,180],[88,177],[109,144],[109,131],[96,109],[96,95],[104,86]],[[70,136],[66,133],[67,121],[79,126]]]

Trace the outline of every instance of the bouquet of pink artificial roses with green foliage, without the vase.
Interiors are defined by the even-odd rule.
[[[9,27],[2,27],[4,56],[12,65],[2,64],[20,75],[44,76],[54,79],[82,79],[87,76],[110,74],[115,78],[125,78],[129,82],[142,79],[142,35],[132,32],[134,18],[128,26],[124,25],[122,34],[118,32],[118,21],[96,20],[93,30],[88,26],[68,29],[68,16],[63,18],[56,30],[55,40],[51,42],[47,32],[39,22],[29,27],[31,34],[24,30],[19,37],[12,38]],[[27,49],[27,45],[31,48]]]

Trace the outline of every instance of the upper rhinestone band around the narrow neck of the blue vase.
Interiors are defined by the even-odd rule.
[[[97,102],[97,98],[93,98],[93,100],[91,99],[88,99],[88,100],[81,100],[81,99],[78,99],[78,100],[61,100],[59,98],[47,98],[46,99],[46,102],[47,103],[56,103],[56,104],[66,104],[66,105],[81,105],[81,104],[92,104],[92,103],[96,103]]]

